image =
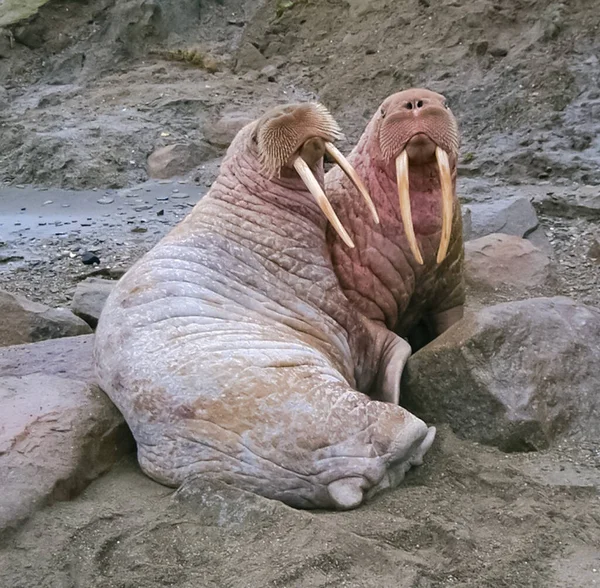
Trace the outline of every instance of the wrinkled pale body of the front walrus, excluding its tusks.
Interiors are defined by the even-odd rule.
[[[353,508],[420,464],[435,429],[364,393],[393,396],[410,349],[349,304],[326,220],[293,169],[261,171],[256,137],[280,114],[240,131],[208,194],[118,282],[96,371],[154,480]],[[334,137],[300,135],[292,151],[306,147],[322,185],[322,153],[311,160],[307,146]]]

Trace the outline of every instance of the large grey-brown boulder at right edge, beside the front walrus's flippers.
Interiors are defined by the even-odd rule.
[[[401,402],[506,451],[600,440],[600,311],[533,298],[468,313],[413,355]]]

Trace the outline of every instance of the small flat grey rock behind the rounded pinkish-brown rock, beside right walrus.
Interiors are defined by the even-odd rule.
[[[533,204],[527,198],[506,198],[468,204],[471,211],[471,239],[492,233],[527,237],[539,225]]]

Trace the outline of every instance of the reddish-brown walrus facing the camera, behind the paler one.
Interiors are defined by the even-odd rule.
[[[334,270],[365,316],[418,347],[463,316],[463,233],[456,196],[460,136],[447,100],[413,88],[384,100],[347,161],[379,213],[340,167],[325,189],[356,247],[328,232]]]

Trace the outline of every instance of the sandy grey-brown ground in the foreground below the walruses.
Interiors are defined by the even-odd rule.
[[[441,431],[402,487],[347,513],[173,492],[127,459],[0,551],[4,586],[592,588],[596,447],[510,454]]]

